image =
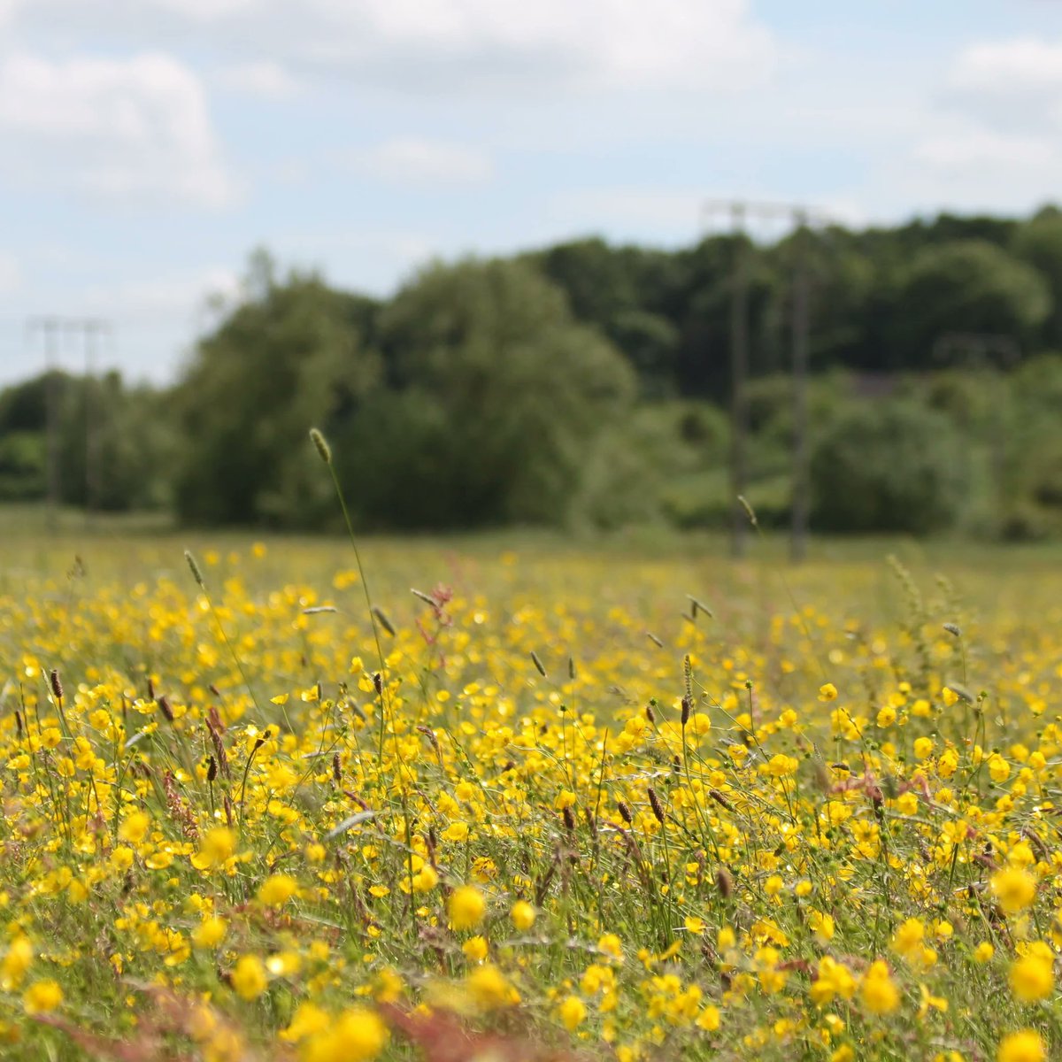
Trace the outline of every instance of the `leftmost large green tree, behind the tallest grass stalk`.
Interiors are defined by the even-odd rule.
[[[315,274],[278,280],[252,259],[247,299],[199,344],[176,402],[175,503],[187,521],[312,526],[330,513],[306,432],[330,431],[378,386],[375,307]]]

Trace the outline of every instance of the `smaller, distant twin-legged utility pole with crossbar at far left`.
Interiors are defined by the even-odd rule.
[[[99,434],[96,419],[100,411],[93,408],[89,389],[93,387],[96,371],[97,340],[110,332],[110,325],[98,318],[66,318],[45,314],[30,318],[27,333],[41,335],[45,347],[45,432],[47,448],[48,502],[47,524],[50,533],[58,526],[58,504],[62,495],[62,473],[59,468],[59,378],[58,353],[62,333],[73,332],[82,337],[85,359],[85,519],[99,499],[100,464]]]

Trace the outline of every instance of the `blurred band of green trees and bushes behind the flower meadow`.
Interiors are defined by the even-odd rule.
[[[73,506],[325,529],[318,425],[365,529],[721,527],[738,261],[765,523],[790,504],[803,262],[812,530],[1062,533],[1055,207],[679,251],[585,239],[431,263],[387,301],[258,252],[172,388],[56,374],[0,392],[0,500],[47,495],[51,402]]]

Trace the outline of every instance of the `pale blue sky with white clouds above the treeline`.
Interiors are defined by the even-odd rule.
[[[735,195],[1062,200],[1062,0],[0,0],[0,384],[40,314],[175,379],[258,246],[387,295],[432,258],[690,244]]]

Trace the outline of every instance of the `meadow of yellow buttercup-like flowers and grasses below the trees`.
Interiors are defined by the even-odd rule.
[[[1049,566],[184,545],[5,550],[0,1057],[1062,1057]]]

